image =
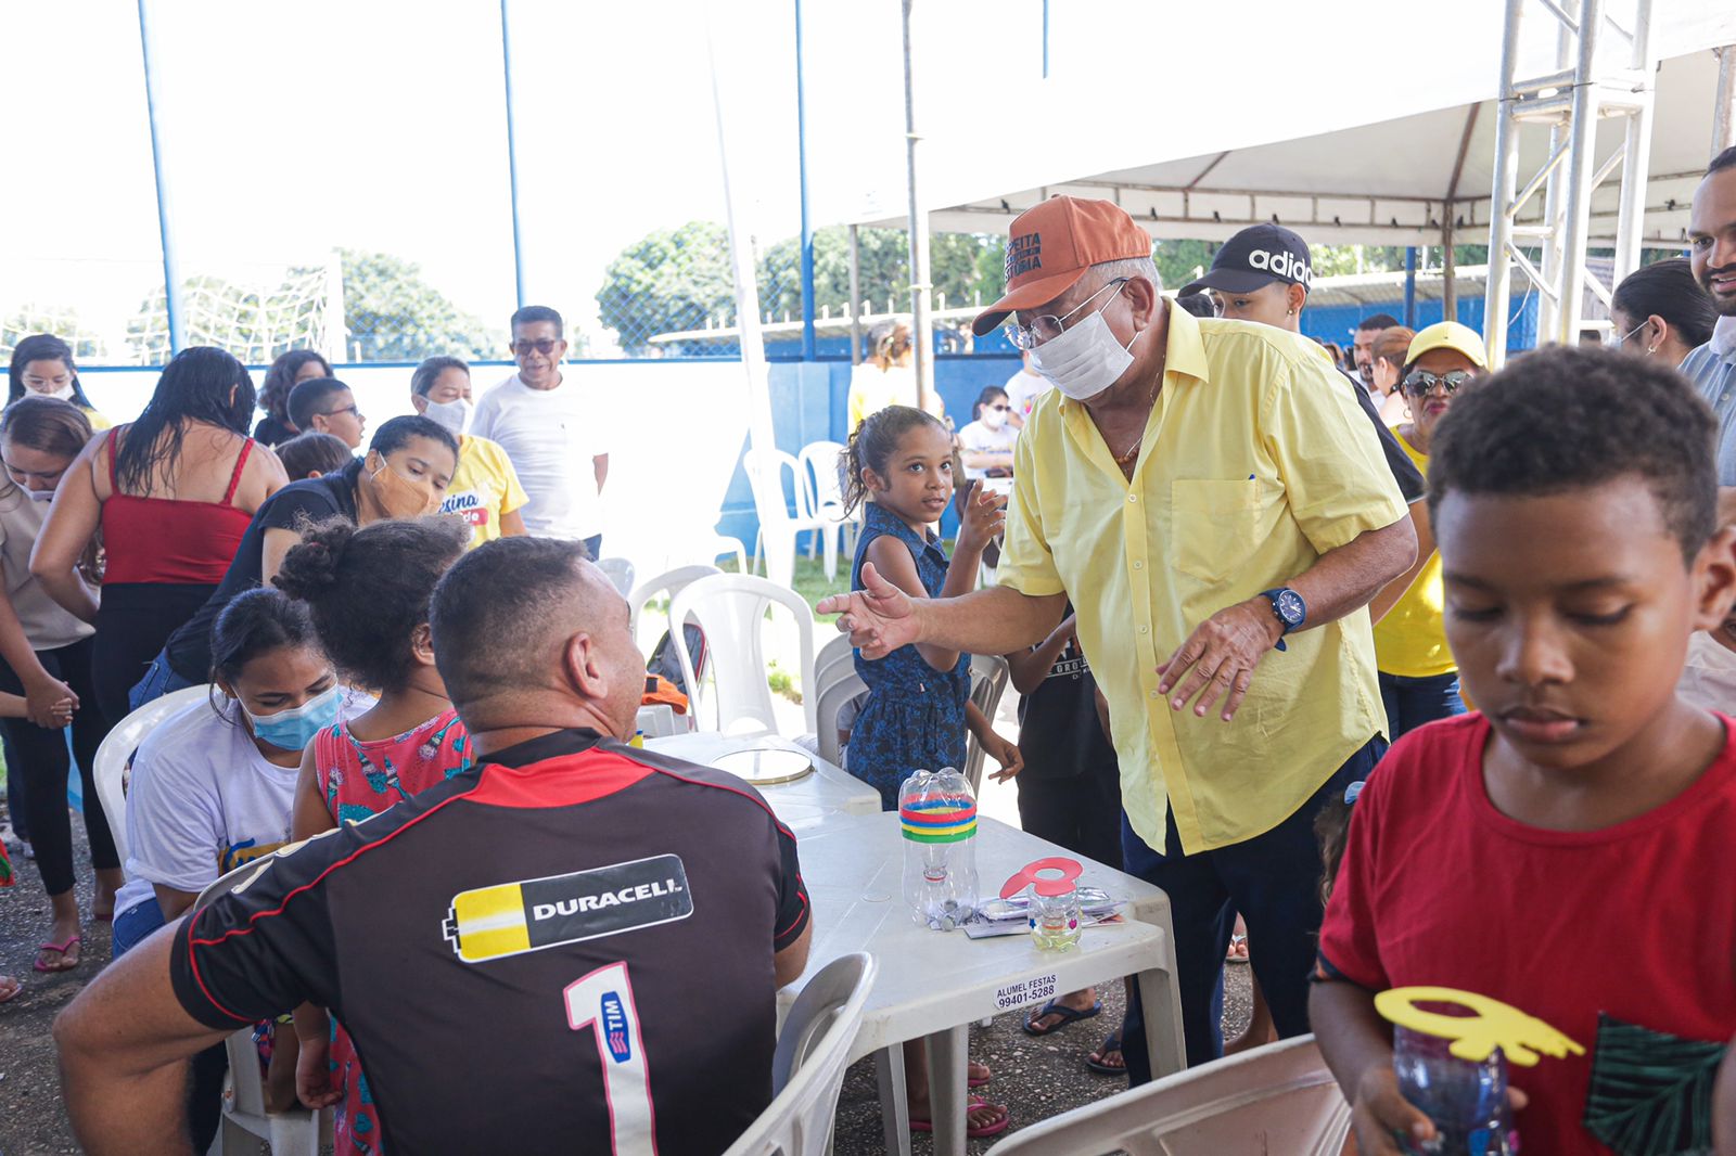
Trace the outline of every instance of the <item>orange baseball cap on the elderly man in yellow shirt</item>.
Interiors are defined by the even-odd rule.
[[[1052,196],[1007,229],[1007,295],[977,314],[977,337],[1009,312],[1052,302],[1104,260],[1149,257],[1151,236],[1113,201]]]

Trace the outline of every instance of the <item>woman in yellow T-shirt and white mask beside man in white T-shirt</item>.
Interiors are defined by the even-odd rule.
[[[505,535],[523,535],[519,516],[528,498],[500,443],[467,432],[470,427],[470,366],[460,358],[429,358],[410,375],[410,404],[458,439],[458,472],[451,476],[441,514],[470,526],[470,548]]]

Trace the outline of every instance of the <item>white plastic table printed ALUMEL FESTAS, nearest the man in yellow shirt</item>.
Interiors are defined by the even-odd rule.
[[[767,795],[771,798],[771,795]],[[814,975],[849,951],[880,962],[851,1059],[877,1055],[885,1088],[903,1081],[906,1040],[927,1040],[936,1156],[965,1151],[965,1047],[972,1022],[1042,1003],[1120,975],[1135,975],[1146,1014],[1153,1076],[1180,1071],[1180,1005],[1170,901],[1151,883],[1076,856],[995,819],[977,816],[979,894],[996,896],[1024,864],[1049,856],[1078,859],[1082,887],[1128,903],[1128,922],[1087,927],[1071,951],[1040,951],[1029,936],[969,939],[962,930],[917,927],[904,906],[904,840],[896,812],[833,814],[797,831],[802,880],[814,906],[814,941],[802,979],[778,993],[779,1012]],[[885,1113],[889,1153],[910,1153],[910,1120]]]

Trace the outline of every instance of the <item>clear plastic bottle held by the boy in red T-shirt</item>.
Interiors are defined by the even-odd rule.
[[[1399,1092],[1436,1126],[1429,1144],[1399,1137],[1399,1146],[1411,1156],[1514,1156],[1519,1135],[1507,1109],[1507,1057],[1495,1048],[1486,1061],[1465,1061],[1448,1052],[1451,1043],[1394,1026]]]

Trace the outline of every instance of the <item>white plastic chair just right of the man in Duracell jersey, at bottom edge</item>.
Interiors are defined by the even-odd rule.
[[[840,955],[795,996],[771,1061],[773,1102],[724,1156],[821,1156],[832,1146],[838,1092],[877,965]]]

